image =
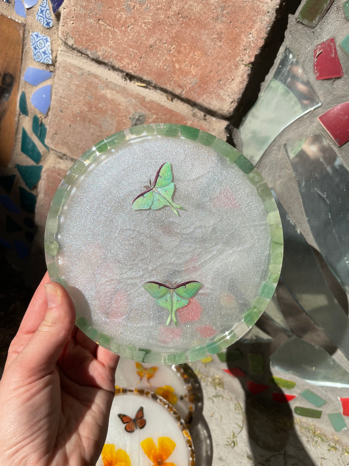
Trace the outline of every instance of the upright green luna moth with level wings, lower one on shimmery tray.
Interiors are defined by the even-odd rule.
[[[156,304],[168,309],[169,316],[166,325],[170,323],[172,317],[177,327],[176,310],[186,306],[189,298],[192,298],[201,286],[202,284],[199,281],[185,281],[179,285],[174,283],[168,286],[157,281],[147,281],[147,283],[144,283],[143,288],[148,291],[150,296],[155,298]]]

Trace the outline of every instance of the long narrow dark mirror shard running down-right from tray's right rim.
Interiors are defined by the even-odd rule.
[[[327,286],[311,247],[277,197],[275,201],[284,237],[280,278],[304,312],[349,360],[348,316]]]

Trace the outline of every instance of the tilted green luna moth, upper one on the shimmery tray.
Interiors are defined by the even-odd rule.
[[[178,206],[172,200],[175,184],[172,182],[171,164],[166,162],[161,165],[157,171],[152,185],[149,180],[149,186],[146,191],[141,192],[132,202],[133,210],[157,210],[161,207],[169,206],[178,215],[176,209],[183,209],[184,207]]]

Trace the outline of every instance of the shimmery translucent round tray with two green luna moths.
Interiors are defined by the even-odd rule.
[[[274,293],[282,244],[272,193],[247,158],[166,123],[85,152],[45,232],[50,278],[67,287],[77,326],[150,364],[202,359],[244,335]]]

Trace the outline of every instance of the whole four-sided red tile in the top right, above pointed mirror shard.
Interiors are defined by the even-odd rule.
[[[339,78],[344,75],[333,37],[314,48],[314,74],[317,80]]]

